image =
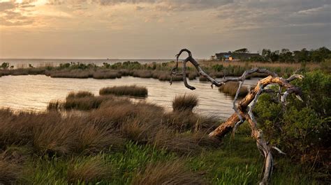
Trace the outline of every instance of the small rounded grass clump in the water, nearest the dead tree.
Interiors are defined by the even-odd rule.
[[[194,107],[198,106],[198,97],[193,94],[177,95],[172,100],[173,111],[192,111]]]

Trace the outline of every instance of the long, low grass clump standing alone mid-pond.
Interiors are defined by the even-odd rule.
[[[99,91],[100,95],[119,95],[119,96],[133,96],[133,97],[147,97],[148,90],[142,86],[113,86],[102,88]]]

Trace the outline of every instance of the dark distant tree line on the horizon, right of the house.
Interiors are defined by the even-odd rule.
[[[271,51],[270,49],[263,49],[260,56],[252,56],[247,60],[281,63],[321,63],[328,59],[331,59],[330,49],[328,49],[327,47],[320,47],[318,49],[311,50],[307,50],[304,48],[300,51],[290,51],[290,49]]]

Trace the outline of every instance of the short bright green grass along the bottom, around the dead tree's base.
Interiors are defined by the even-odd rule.
[[[84,184],[86,181],[81,179],[89,179],[93,184],[132,184],[141,175],[140,172],[151,164],[157,166],[176,161],[184,163],[184,171],[202,175],[208,184],[258,184],[263,166],[263,157],[259,155],[255,141],[247,135],[236,134],[234,138],[224,138],[219,149],[206,150],[198,156],[177,156],[152,145],[137,145],[133,142],[128,142],[122,152],[101,152],[96,156],[31,156],[26,165],[29,170],[20,182]],[[307,168],[291,162],[286,156],[276,156],[275,162],[272,184],[321,183],[314,179]],[[84,170],[89,169],[97,169],[97,175],[85,174]],[[71,171],[75,170],[78,172],[75,172],[73,178]]]

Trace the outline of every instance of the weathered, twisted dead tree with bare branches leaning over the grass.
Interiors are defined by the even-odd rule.
[[[182,54],[182,52],[186,51],[189,56],[183,61],[183,67],[182,72],[178,72],[178,58]],[[293,81],[295,79],[302,79],[303,76],[299,74],[294,74],[293,76],[289,77],[288,79],[284,79],[282,77],[278,77],[278,75],[274,72],[270,72],[266,69],[259,69],[259,68],[253,68],[251,70],[247,70],[242,74],[241,77],[224,77],[220,81],[217,81],[216,79],[213,79],[210,77],[207,73],[203,71],[203,69],[200,67],[199,63],[192,57],[191,51],[188,49],[182,49],[179,51],[179,54],[176,55],[177,57],[177,63],[176,66],[172,68],[171,75],[182,75],[184,85],[186,88],[189,88],[191,90],[194,90],[193,86],[190,86],[189,83],[186,81],[186,63],[190,62],[196,67],[196,70],[198,70],[200,76],[203,76],[208,79],[212,83],[213,86],[222,86],[224,83],[228,81],[239,81],[240,86],[237,90],[237,94],[235,95],[235,99],[233,101],[233,109],[235,110],[235,113],[226,120],[226,122],[223,122],[219,125],[214,131],[212,131],[209,136],[210,137],[218,137],[221,138],[228,134],[230,131],[235,131],[235,129],[240,126],[245,120],[249,123],[249,126],[251,127],[251,136],[256,139],[256,145],[258,147],[258,150],[260,151],[260,154],[262,154],[265,157],[265,163],[263,167],[263,178],[260,182],[260,184],[268,184],[270,182],[270,177],[272,175],[272,168],[273,168],[273,159],[272,159],[272,153],[271,150],[277,150],[277,152],[284,154],[284,152],[281,152],[277,147],[270,146],[265,138],[263,138],[263,132],[262,130],[258,129],[257,122],[253,115],[253,108],[256,105],[256,102],[258,101],[258,97],[261,95],[261,93],[277,93],[280,102],[283,104],[286,104],[286,97],[290,94],[296,95],[298,99],[301,99],[301,91],[300,88],[297,88],[290,84],[290,81]],[[244,83],[244,80],[247,78],[249,74],[252,73],[263,73],[267,74],[268,77],[265,79],[261,79],[258,81],[256,87],[249,92],[249,94],[240,100],[240,102],[237,103],[237,97],[240,92],[240,88],[242,86],[242,83]],[[172,81],[170,80],[170,83]],[[265,88],[269,84],[277,84],[279,86],[279,90],[277,92],[274,92],[274,90]],[[282,93],[284,91],[284,93]]]

